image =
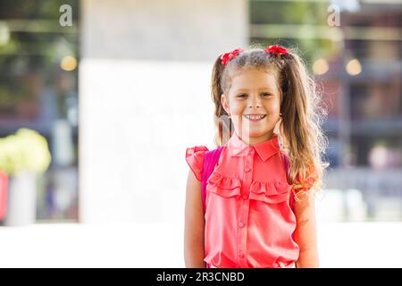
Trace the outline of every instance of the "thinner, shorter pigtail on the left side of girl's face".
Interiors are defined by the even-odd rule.
[[[211,83],[211,96],[214,101],[214,125],[215,125],[215,137],[214,141],[216,146],[222,146],[230,139],[232,134],[231,120],[229,114],[224,110],[221,97],[223,93],[222,88],[222,73],[224,65],[221,63],[221,57],[219,56],[215,63],[212,72]]]

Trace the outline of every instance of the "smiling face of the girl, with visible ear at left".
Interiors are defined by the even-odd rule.
[[[272,138],[281,112],[281,92],[273,73],[241,71],[231,79],[229,92],[222,94],[221,102],[244,142],[255,145]]]

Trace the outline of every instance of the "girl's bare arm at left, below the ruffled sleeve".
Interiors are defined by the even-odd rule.
[[[204,211],[201,182],[188,172],[184,225],[184,261],[187,268],[205,268]]]

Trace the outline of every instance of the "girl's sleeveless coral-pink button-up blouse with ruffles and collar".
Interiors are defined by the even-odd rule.
[[[186,161],[201,181],[205,146]],[[234,133],[206,184],[205,258],[208,267],[287,267],[297,261],[291,185],[273,134],[254,146]]]

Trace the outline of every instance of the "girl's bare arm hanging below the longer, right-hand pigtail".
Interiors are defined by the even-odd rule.
[[[306,191],[301,194],[300,201],[295,200],[297,227],[295,240],[300,248],[297,268],[319,267],[317,237],[315,225],[314,193]]]

